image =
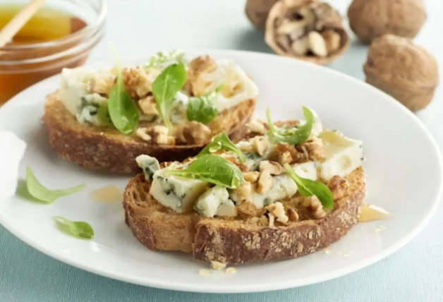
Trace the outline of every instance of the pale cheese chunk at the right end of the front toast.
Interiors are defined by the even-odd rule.
[[[363,143],[347,138],[339,131],[325,130],[320,133],[324,145],[325,160],[320,164],[319,174],[324,181],[333,176],[347,176],[363,164]]]

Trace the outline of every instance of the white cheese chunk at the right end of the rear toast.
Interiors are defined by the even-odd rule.
[[[229,109],[248,99],[255,99],[258,95],[258,87],[248,74],[231,60],[219,60],[217,68],[210,73],[202,73],[200,77],[207,81],[207,90],[210,93],[222,87],[221,93],[214,101],[219,112]]]

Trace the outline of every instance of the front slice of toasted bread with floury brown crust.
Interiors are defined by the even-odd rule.
[[[322,219],[302,219],[272,227],[259,226],[240,217],[200,217],[195,212],[178,214],[150,195],[150,181],[138,174],[129,181],[123,196],[126,224],[151,250],[181,250],[199,260],[244,263],[283,260],[314,253],[338,241],[358,222],[365,198],[363,167],[346,177],[344,197]],[[281,200],[291,207],[296,195]]]

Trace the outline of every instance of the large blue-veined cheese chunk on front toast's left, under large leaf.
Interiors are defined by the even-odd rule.
[[[195,201],[207,190],[208,183],[197,179],[185,179],[160,169],[152,176],[150,194],[165,207],[178,213],[192,210]]]

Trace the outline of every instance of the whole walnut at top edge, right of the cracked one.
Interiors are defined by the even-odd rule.
[[[415,37],[426,11],[423,0],[353,0],[348,19],[358,38],[370,43],[384,34]]]

